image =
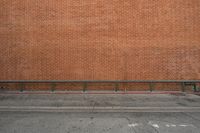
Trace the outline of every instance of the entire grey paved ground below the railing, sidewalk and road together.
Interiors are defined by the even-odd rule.
[[[0,133],[200,133],[196,95],[0,94]],[[4,108],[3,108],[4,107]],[[12,107],[21,107],[14,110]],[[33,107],[29,111],[25,109]],[[52,112],[34,108],[56,108]],[[58,108],[57,108],[58,107]],[[60,107],[156,108],[143,112],[59,112]],[[165,112],[159,108],[172,108]],[[179,107],[179,109],[177,109]],[[191,110],[187,110],[191,108]],[[176,110],[179,110],[176,112]]]

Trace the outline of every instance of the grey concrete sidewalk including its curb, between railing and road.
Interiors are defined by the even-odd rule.
[[[0,94],[0,111],[200,112],[193,94]]]

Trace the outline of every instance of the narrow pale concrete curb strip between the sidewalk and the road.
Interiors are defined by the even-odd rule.
[[[200,107],[39,107],[0,106],[0,112],[200,112]]]

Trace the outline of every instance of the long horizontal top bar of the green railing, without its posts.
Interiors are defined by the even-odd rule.
[[[0,80],[0,83],[200,83],[200,80]]]

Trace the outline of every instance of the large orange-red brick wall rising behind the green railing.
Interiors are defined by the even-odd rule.
[[[200,79],[200,0],[1,0],[0,79]]]

